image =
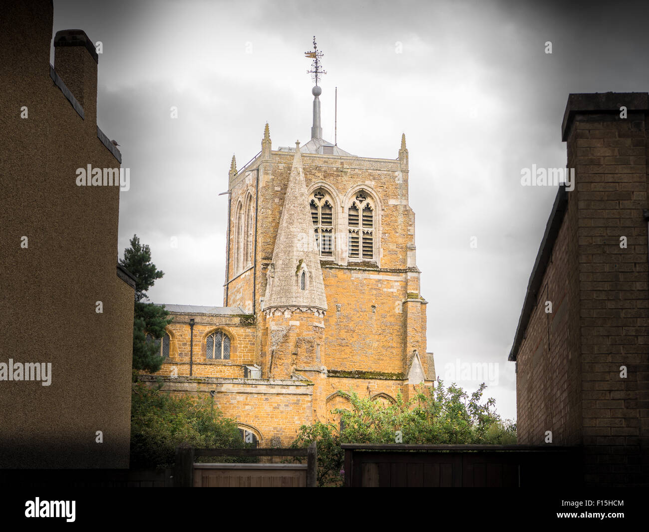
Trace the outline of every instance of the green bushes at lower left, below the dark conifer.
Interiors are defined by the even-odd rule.
[[[172,467],[176,447],[245,448],[234,420],[214,406],[212,398],[172,396],[134,384],[131,398],[130,464],[132,468]],[[196,461],[257,461],[256,458],[200,457]]]

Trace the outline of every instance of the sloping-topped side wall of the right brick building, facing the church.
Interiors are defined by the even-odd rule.
[[[546,431],[552,431],[552,442],[557,445],[578,444],[582,436],[581,404],[577,400],[581,388],[579,356],[571,341],[579,338],[578,279],[565,267],[574,254],[570,219],[574,218],[576,204],[571,194],[567,193],[567,213],[517,356],[520,444],[543,444]],[[551,313],[546,313],[546,302],[552,304]]]

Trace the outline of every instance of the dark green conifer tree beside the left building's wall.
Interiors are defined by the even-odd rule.
[[[145,303],[147,290],[164,272],[156,269],[151,263],[151,249],[140,245],[140,239],[134,235],[130,239],[130,248],[124,250],[124,259],[119,263],[136,276],[135,308],[133,319],[133,369],[157,372],[162,366],[159,340],[164,335],[165,326],[171,323],[167,319],[169,312],[163,306]],[[146,341],[149,333],[158,341]],[[135,379],[135,377],[134,377]]]

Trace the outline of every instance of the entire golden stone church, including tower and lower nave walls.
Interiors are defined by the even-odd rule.
[[[408,149],[350,154],[322,138],[316,66],[312,138],[262,150],[229,173],[223,307],[165,305],[171,393],[211,394],[260,446],[335,421],[350,390],[394,402],[432,385],[419,291]]]

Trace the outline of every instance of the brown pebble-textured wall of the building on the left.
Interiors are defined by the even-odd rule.
[[[0,28],[0,329],[14,332],[0,361],[52,364],[49,386],[0,386],[0,467],[128,467],[133,288],[116,273],[119,187],[77,186],[79,168],[120,167],[98,137],[97,62],[85,46],[55,46],[53,81],[50,0],[5,5]]]

